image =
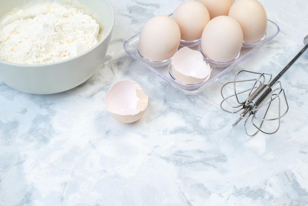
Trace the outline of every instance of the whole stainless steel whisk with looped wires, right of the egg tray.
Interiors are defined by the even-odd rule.
[[[272,74],[242,70],[234,81],[227,82],[221,88],[222,110],[229,113],[240,113],[240,117],[232,126],[242,119],[245,132],[254,136],[259,131],[274,134],[280,127],[280,118],[288,109],[288,103],[279,78],[302,56],[308,48],[308,35],[304,38],[303,49],[272,79]],[[246,76],[254,76],[247,79]],[[228,95],[232,93],[232,95]],[[250,119],[250,121],[248,121]],[[251,124],[247,124],[251,123]]]

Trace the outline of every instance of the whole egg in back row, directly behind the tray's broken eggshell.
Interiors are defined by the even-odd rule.
[[[201,38],[205,25],[210,21],[210,14],[201,2],[188,0],[175,9],[172,18],[180,27],[181,39],[191,41]]]

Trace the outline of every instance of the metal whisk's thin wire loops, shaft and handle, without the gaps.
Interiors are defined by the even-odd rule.
[[[271,79],[271,77],[272,77],[271,74],[265,74],[265,73],[262,74],[262,73],[256,73],[256,72],[251,72],[251,71],[249,72],[249,71],[246,71],[246,70],[242,70],[236,75],[234,82],[228,82],[228,83],[226,83],[222,86],[221,95],[223,97],[223,101],[221,102],[220,107],[223,110],[228,111],[227,109],[223,108],[223,106],[222,106],[223,103],[227,103],[232,108],[238,108],[238,107],[242,106],[242,108],[238,109],[235,112],[233,110],[232,111],[230,110],[229,111],[230,113],[236,113],[236,112],[239,112],[240,110],[243,109],[243,111],[240,114],[240,118],[238,118],[232,126],[235,126],[242,119],[244,119],[246,117],[246,121],[245,121],[244,126],[245,126],[246,134],[248,136],[254,136],[259,131],[261,131],[265,134],[274,134],[274,133],[277,132],[277,130],[280,127],[280,118],[286,114],[286,112],[288,111],[288,108],[289,108],[285,94],[284,94],[284,90],[281,88],[281,84],[278,80],[308,49],[308,35],[304,38],[304,45],[305,46],[302,48],[302,50],[295,57],[293,57],[293,59],[268,83],[265,83],[265,75],[270,75],[269,79]],[[238,92],[235,88],[236,83],[249,82],[250,81],[250,80],[238,80],[237,79],[238,75],[241,72],[245,72],[245,71],[249,72],[249,73],[260,74],[260,76],[257,79],[253,79],[253,80],[255,80],[255,83],[252,86],[252,88],[244,90],[242,92]],[[259,81],[261,77],[264,77],[264,81]],[[223,91],[223,88],[226,85],[229,85],[229,83],[233,83],[234,95],[225,97],[222,94],[222,91]],[[258,86],[256,86],[257,83],[259,83]],[[249,95],[248,95],[246,101],[245,102],[239,101],[238,95],[241,95],[241,94],[243,94],[247,91],[250,91],[250,92],[249,92]],[[281,113],[281,111],[280,111],[280,105],[281,105],[280,104],[281,100],[280,100],[280,97],[279,97],[280,94],[283,96],[283,98],[281,98],[281,100],[284,101],[284,103],[285,103],[285,109],[284,109],[283,113]],[[237,101],[236,105],[228,102],[229,99],[231,99],[232,97],[235,97],[235,99]],[[269,118],[269,117],[267,117],[267,113],[268,113],[268,110],[271,107],[271,105],[273,105],[272,104],[273,101],[276,101],[276,103],[278,102],[278,105],[277,105],[279,107],[278,115],[275,116],[275,114],[274,114],[274,116],[271,116]],[[262,108],[264,108],[264,109],[262,110]],[[258,112],[259,110],[262,110],[261,111],[263,113],[262,116],[256,116],[256,112]],[[257,129],[256,132],[254,132],[253,134],[248,133],[247,129],[246,129],[246,122],[250,117],[251,117],[251,124]],[[259,121],[258,124],[255,124],[254,120]],[[263,126],[263,123],[265,121],[275,121],[275,120],[278,120],[278,125],[277,125],[275,131],[268,132],[268,131],[261,129],[261,127]]]

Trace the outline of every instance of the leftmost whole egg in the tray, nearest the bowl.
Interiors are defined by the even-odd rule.
[[[155,16],[143,26],[139,36],[139,53],[151,61],[172,58],[180,45],[178,24],[169,16]]]

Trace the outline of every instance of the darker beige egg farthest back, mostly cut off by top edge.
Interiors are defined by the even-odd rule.
[[[227,16],[233,0],[198,0],[207,7],[211,19],[216,16]]]

